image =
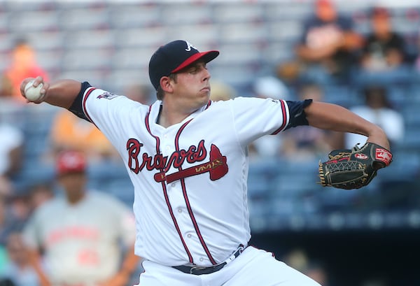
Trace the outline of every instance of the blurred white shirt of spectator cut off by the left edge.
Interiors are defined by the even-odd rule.
[[[14,176],[22,166],[24,135],[22,130],[0,118],[0,176]]]

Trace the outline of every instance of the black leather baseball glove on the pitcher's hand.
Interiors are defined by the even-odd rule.
[[[332,150],[327,162],[319,162],[319,178],[324,187],[359,189],[372,181],[377,170],[391,164],[389,150],[374,144],[355,145],[349,150]]]

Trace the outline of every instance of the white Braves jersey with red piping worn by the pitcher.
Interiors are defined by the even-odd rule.
[[[137,255],[211,266],[247,244],[247,145],[286,129],[286,101],[210,101],[165,128],[156,123],[161,101],[144,106],[83,86],[83,113],[116,147],[134,184]]]

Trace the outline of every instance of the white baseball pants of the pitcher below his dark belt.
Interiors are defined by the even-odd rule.
[[[210,274],[183,273],[145,260],[138,286],[321,286],[276,260],[271,252],[249,246],[223,269]]]

